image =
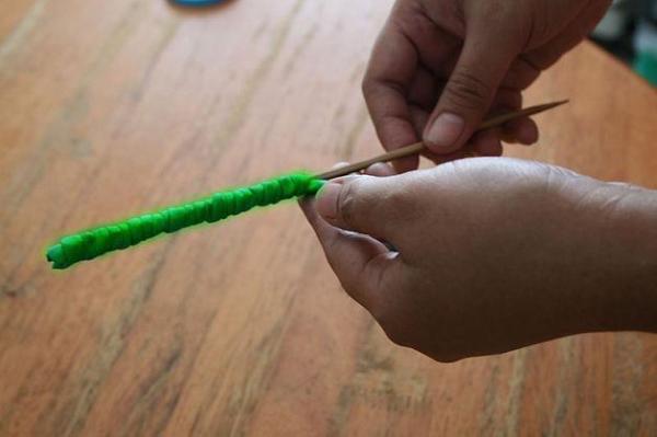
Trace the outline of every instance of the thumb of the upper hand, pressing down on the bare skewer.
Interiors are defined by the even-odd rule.
[[[435,153],[453,152],[470,139],[519,53],[512,48],[517,44],[500,41],[502,31],[489,23],[471,28],[424,131],[424,142]]]

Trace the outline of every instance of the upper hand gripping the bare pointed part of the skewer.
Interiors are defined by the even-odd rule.
[[[435,162],[460,158],[488,113],[518,110],[522,90],[596,25],[610,0],[397,0],[362,82],[387,150],[420,138]],[[475,135],[482,156],[500,139],[531,145],[529,118]],[[417,168],[417,157],[395,162]]]

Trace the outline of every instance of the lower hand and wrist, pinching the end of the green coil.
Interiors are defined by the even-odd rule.
[[[654,192],[480,158],[347,176],[302,207],[345,290],[437,360],[657,332]]]

